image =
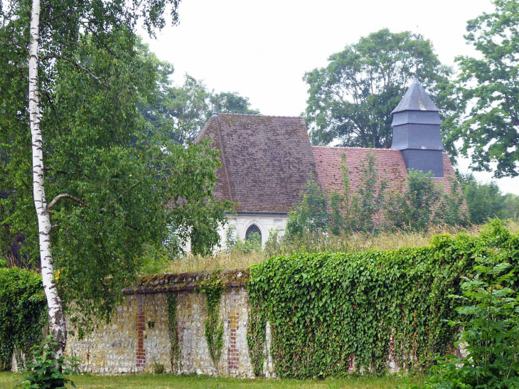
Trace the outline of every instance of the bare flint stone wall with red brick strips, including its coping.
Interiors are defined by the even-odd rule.
[[[80,358],[80,371],[85,373],[153,373],[155,366],[162,365],[166,372],[173,373],[254,377],[247,346],[248,270],[224,270],[218,275],[226,289],[220,299],[223,352],[217,366],[205,340],[205,294],[197,290],[209,276],[210,272],[196,272],[144,277],[137,289],[124,290],[125,302],[109,324],[99,324],[81,341],[77,331],[69,328],[66,353]],[[168,293],[176,294],[180,346],[180,357],[173,369]],[[265,363],[264,375],[272,376],[272,362]]]

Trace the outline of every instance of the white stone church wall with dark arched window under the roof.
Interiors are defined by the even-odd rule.
[[[279,236],[284,234],[287,228],[288,215],[262,214],[262,213],[238,213],[237,215],[230,215],[229,222],[218,229],[220,234],[221,250],[225,250],[225,240],[227,240],[227,231],[230,225],[236,228],[236,235],[238,240],[245,240],[247,229],[251,225],[257,225],[262,234],[262,245],[267,242],[271,231],[278,230]]]

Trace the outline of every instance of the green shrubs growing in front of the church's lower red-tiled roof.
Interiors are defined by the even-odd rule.
[[[444,184],[434,182],[432,173],[410,169],[407,188],[387,191],[389,181],[379,177],[378,172],[376,152],[368,152],[360,161],[358,188],[352,191],[346,154],[343,154],[342,193],[331,191],[328,197],[315,181],[308,181],[301,206],[289,213],[287,238],[302,238],[305,232],[319,230],[341,235],[343,230],[424,230],[439,223],[466,223],[463,193],[456,180],[449,181],[446,190]]]

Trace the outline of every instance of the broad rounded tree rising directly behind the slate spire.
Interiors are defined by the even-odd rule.
[[[328,61],[326,68],[304,75],[309,85],[306,121],[314,144],[391,146],[391,111],[414,79],[416,63],[419,81],[442,117],[456,109],[449,97],[451,69],[439,62],[430,41],[414,40],[410,32],[371,33]]]

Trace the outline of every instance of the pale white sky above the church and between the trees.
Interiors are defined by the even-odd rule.
[[[305,72],[361,36],[421,33],[439,59],[474,55],[464,40],[466,21],[493,10],[491,0],[182,0],[180,25],[144,41],[173,63],[173,80],[188,73],[216,92],[239,92],[262,114],[299,116],[306,108]],[[418,26],[418,27],[417,27]],[[467,171],[469,161],[459,161]],[[488,182],[492,174],[478,173]],[[519,178],[502,178],[503,192],[519,194]]]

